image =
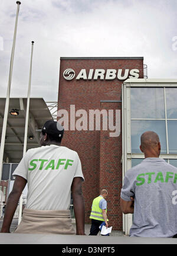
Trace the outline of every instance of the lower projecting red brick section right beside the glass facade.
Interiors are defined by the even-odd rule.
[[[122,103],[101,103],[101,108],[115,111],[122,110]],[[120,120],[120,127],[122,122]],[[122,130],[122,129],[121,129]],[[110,137],[110,131],[100,132],[100,188],[108,191],[107,217],[113,229],[122,230],[122,211],[120,210],[120,190],[122,188],[122,132],[117,137]]]

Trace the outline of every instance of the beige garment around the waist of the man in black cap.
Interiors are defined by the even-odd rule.
[[[14,233],[74,235],[70,210],[23,210],[22,220]]]

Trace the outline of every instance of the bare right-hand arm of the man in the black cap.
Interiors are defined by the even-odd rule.
[[[81,187],[81,178],[74,178],[71,185],[71,193],[73,197],[74,214],[76,217],[76,235],[85,235],[85,204]]]

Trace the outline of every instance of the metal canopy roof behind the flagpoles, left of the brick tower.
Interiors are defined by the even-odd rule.
[[[4,118],[6,98],[0,98],[0,136],[2,135],[2,124]],[[19,163],[23,156],[24,132],[25,132],[25,115],[27,108],[27,98],[10,98],[9,111],[12,109],[19,110],[18,116],[11,116],[8,113],[6,127],[6,138],[4,147],[4,162]],[[53,116],[47,107],[43,98],[30,98],[30,110],[28,121],[27,150],[40,146],[40,133],[45,121],[53,120]]]

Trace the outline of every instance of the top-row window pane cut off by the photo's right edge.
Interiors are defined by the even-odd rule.
[[[177,88],[165,88],[166,94],[166,114],[168,119],[177,119]]]

